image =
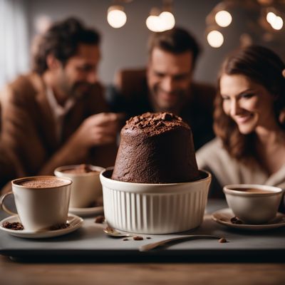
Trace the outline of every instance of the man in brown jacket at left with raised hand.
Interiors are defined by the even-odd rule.
[[[97,78],[99,43],[98,32],[77,19],[53,24],[37,41],[33,71],[1,93],[2,146],[22,170],[15,176],[113,165],[121,115],[107,113]]]

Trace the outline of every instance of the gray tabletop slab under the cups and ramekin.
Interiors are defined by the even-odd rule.
[[[260,232],[232,229],[212,221],[211,213],[227,207],[224,201],[210,200],[207,214],[202,225],[191,231],[191,234],[214,234],[225,237],[227,243],[216,239],[187,240],[168,247],[161,247],[150,252],[139,252],[142,244],[156,242],[166,237],[177,237],[180,234],[141,234],[151,237],[142,241],[114,239],[103,233],[104,224],[95,224],[94,217],[85,217],[83,227],[62,237],[50,239],[23,239],[0,232],[0,254],[11,257],[192,257],[207,259],[209,257],[249,257],[282,259],[285,254],[285,227]],[[0,210],[0,219],[7,217]],[[183,233],[185,234],[185,233]],[[114,259],[115,260],[115,259]]]

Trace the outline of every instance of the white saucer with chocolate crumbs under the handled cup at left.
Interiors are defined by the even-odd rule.
[[[31,232],[26,229],[23,230],[6,229],[5,227],[2,226],[4,222],[19,222],[18,216],[10,216],[7,217],[6,219],[2,219],[0,222],[0,229],[15,237],[24,237],[27,239],[43,239],[47,237],[58,237],[63,234],[69,234],[70,232],[73,232],[82,226],[83,219],[81,217],[76,216],[75,214],[68,213],[67,222],[68,224],[70,224],[69,227],[66,227],[66,229],[48,230],[43,232]]]

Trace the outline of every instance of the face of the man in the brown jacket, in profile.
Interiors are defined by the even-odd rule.
[[[58,70],[58,87],[68,97],[81,97],[98,81],[99,60],[98,46],[81,43],[76,55],[69,58],[66,65]]]

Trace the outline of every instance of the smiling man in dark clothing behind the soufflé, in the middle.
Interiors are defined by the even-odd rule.
[[[113,111],[134,116],[145,112],[172,112],[192,128],[195,148],[214,137],[212,86],[192,81],[199,46],[182,28],[153,33],[146,70],[124,70],[108,89]]]

